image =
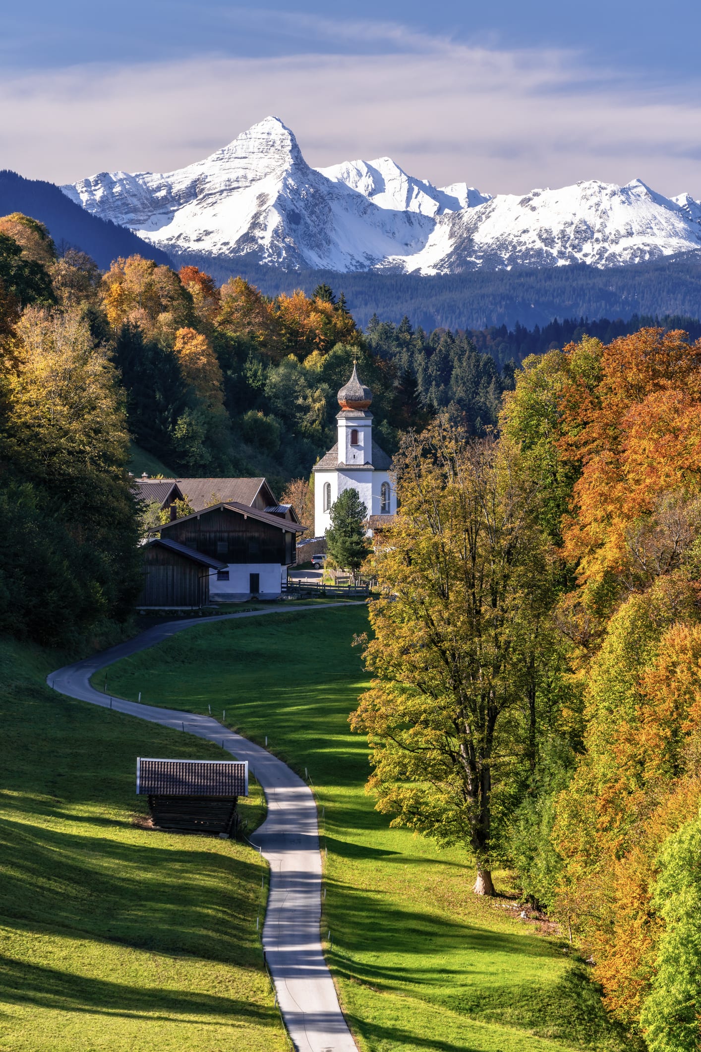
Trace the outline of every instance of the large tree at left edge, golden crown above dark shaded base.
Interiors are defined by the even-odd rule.
[[[129,615],[141,584],[116,372],[78,310],[25,309],[14,344],[2,373],[0,623],[42,643],[99,636]]]

